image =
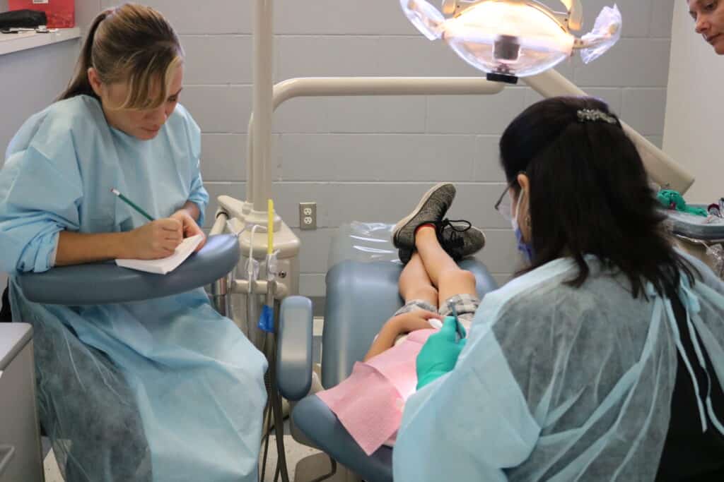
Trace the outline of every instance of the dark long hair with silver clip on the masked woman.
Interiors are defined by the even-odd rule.
[[[615,120],[581,121],[594,109]],[[531,270],[562,256],[578,265],[569,284],[589,276],[586,254],[618,268],[633,296],[647,282],[661,295],[677,291],[680,273],[694,268],[673,249],[664,216],[644,164],[618,118],[594,98],[550,98],[523,111],[500,139],[500,162],[508,182],[530,179],[529,212],[534,259]]]

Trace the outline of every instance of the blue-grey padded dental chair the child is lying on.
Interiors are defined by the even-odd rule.
[[[402,264],[390,243],[391,225],[353,223],[332,242],[327,272],[327,303],[322,335],[321,383],[334,387],[352,373],[382,324],[403,305],[397,289]],[[464,259],[480,298],[497,288],[481,262]],[[368,482],[392,481],[392,449],[367,456],[337,417],[316,395],[308,395],[312,377],[312,304],[290,296],[282,301],[277,338],[279,391],[292,406],[292,436],[326,452]],[[330,474],[331,476],[332,474]],[[317,481],[323,480],[321,478]],[[346,479],[349,480],[349,479]]]

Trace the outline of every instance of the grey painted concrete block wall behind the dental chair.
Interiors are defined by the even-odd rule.
[[[97,1],[97,0],[96,0]],[[100,0],[100,8],[117,2]],[[549,2],[560,7],[560,2]],[[606,4],[584,3],[586,27]],[[573,59],[560,72],[609,102],[661,144],[674,0],[617,1],[618,46],[593,64]],[[174,24],[186,51],[181,101],[203,131],[202,170],[212,197],[245,196],[245,142],[251,113],[251,0],[146,0]],[[429,42],[394,0],[277,0],[275,79],[302,76],[470,76],[447,46]],[[87,18],[92,18],[90,13]],[[90,20],[88,20],[90,21]],[[0,62],[2,60],[0,59]],[[451,218],[484,229],[480,258],[504,282],[518,264],[510,225],[493,210],[505,188],[497,140],[523,108],[527,87],[472,97],[307,98],[274,116],[274,197],[302,240],[300,291],[324,295],[329,241],[352,220],[395,223],[437,181],[458,184]],[[319,228],[298,231],[298,202],[318,203]],[[209,207],[214,212],[215,202]]]

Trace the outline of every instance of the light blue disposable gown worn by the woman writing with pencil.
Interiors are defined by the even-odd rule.
[[[33,324],[41,423],[69,481],[256,481],[266,359],[203,288],[49,306],[25,299],[12,276],[49,270],[59,231],[143,225],[114,187],[154,218],[188,200],[203,213],[200,150],[182,106],[140,141],[111,128],[88,96],[36,114],[8,148],[0,271],[11,273],[14,320]]]

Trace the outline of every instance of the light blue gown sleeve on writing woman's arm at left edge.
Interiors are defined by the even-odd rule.
[[[70,129],[62,122],[30,119],[18,136],[37,129],[54,142],[8,150],[0,176],[0,271],[43,272],[55,259],[58,233],[77,231],[83,188]]]

